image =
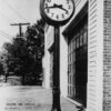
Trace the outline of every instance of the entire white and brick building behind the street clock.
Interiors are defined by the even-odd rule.
[[[111,111],[111,0],[74,0],[60,31],[61,95],[87,111]],[[46,27],[44,87],[51,88],[53,27]]]

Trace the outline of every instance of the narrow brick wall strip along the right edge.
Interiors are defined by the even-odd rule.
[[[111,111],[111,0],[104,0],[103,111]]]

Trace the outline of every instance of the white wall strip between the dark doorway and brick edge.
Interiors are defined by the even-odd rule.
[[[104,111],[103,102],[103,0],[89,0],[88,107]]]

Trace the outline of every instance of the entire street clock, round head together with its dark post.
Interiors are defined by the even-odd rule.
[[[52,109],[61,111],[60,107],[60,27],[64,26],[74,13],[73,0],[40,0],[40,14],[50,26],[54,27],[53,50],[53,88]]]

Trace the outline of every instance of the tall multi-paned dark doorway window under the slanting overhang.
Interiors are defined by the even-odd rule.
[[[83,100],[83,95],[85,95],[84,88],[87,85],[79,84],[82,78],[82,74],[87,77],[87,70],[83,72],[81,69],[87,67],[87,42],[88,42],[88,24],[82,21],[80,27],[77,27],[77,31],[73,38],[70,40],[68,44],[68,97],[71,99]],[[85,48],[85,49],[84,49]],[[84,63],[85,62],[85,63]],[[82,67],[81,67],[82,65]],[[84,78],[85,79],[85,78]],[[81,91],[84,93],[82,95]]]

